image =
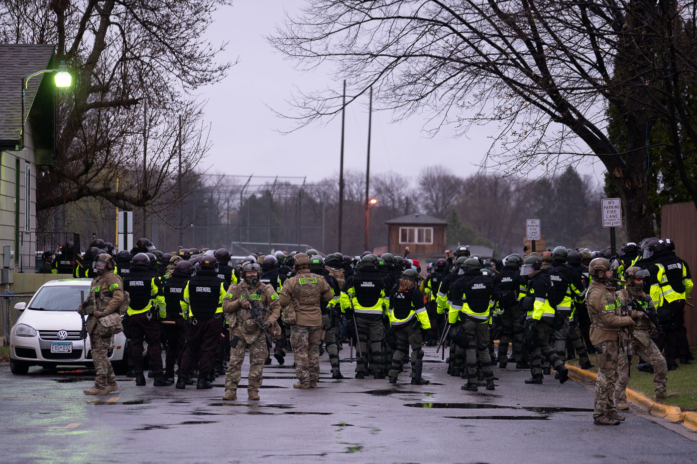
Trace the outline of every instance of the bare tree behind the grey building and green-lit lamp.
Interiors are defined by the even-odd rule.
[[[190,91],[230,65],[215,62],[222,46],[203,37],[223,3],[0,1],[0,39],[56,44],[73,76],[57,98],[55,162],[37,177],[37,210],[93,196],[160,214],[187,194],[171,180],[209,146]]]

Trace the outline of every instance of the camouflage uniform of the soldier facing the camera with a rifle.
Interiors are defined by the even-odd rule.
[[[230,324],[231,340],[237,340],[237,345],[230,349],[230,364],[225,373],[225,391],[237,392],[237,385],[242,377],[242,362],[245,359],[245,350],[250,350],[250,373],[247,376],[247,392],[259,394],[259,387],[263,379],[263,363],[268,357],[266,336],[263,330],[250,314],[250,310],[243,307],[247,300],[245,290],[250,293],[252,300],[259,302],[263,307],[261,316],[266,324],[269,334],[281,311],[278,304],[278,295],[273,287],[256,281],[254,286],[248,286],[242,280],[239,284],[232,284],[227,289],[223,298],[222,310]]]

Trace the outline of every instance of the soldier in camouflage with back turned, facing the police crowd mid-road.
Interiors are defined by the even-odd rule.
[[[332,301],[334,293],[323,276],[309,272],[307,254],[296,254],[293,263],[297,274],[286,280],[279,302],[283,308],[283,322],[291,326],[291,346],[298,377],[293,388],[307,389],[316,387],[319,380],[322,308]]]

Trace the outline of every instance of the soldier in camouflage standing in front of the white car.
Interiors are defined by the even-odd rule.
[[[77,311],[81,316],[89,317],[86,320],[87,333],[89,333],[92,347],[92,359],[97,376],[94,386],[83,391],[86,395],[105,395],[118,391],[114,368],[109,362],[107,350],[112,345],[115,327],[121,327],[121,315],[118,309],[123,302],[123,284],[121,277],[114,274],[114,259],[109,254],[100,254],[93,261],[93,268],[97,277],[90,286],[89,296]],[[100,320],[109,320],[106,327]],[[113,328],[112,328],[113,327]],[[121,330],[118,330],[121,332]]]

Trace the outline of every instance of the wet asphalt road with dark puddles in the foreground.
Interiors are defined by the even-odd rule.
[[[348,348],[340,353],[348,356]],[[93,373],[31,368],[13,376],[0,364],[3,463],[694,463],[697,433],[639,410],[619,426],[592,424],[592,385],[495,369],[496,391],[460,389],[425,348],[431,385],[332,380],[321,358],[317,389],[296,390],[292,357],[264,369],[261,401],[221,401],[215,388],[136,387],[85,396]],[[343,360],[342,360],[343,361]],[[513,364],[509,364],[513,366]],[[246,366],[245,366],[246,367]],[[245,376],[243,371],[243,376]],[[246,384],[243,378],[242,384]]]

